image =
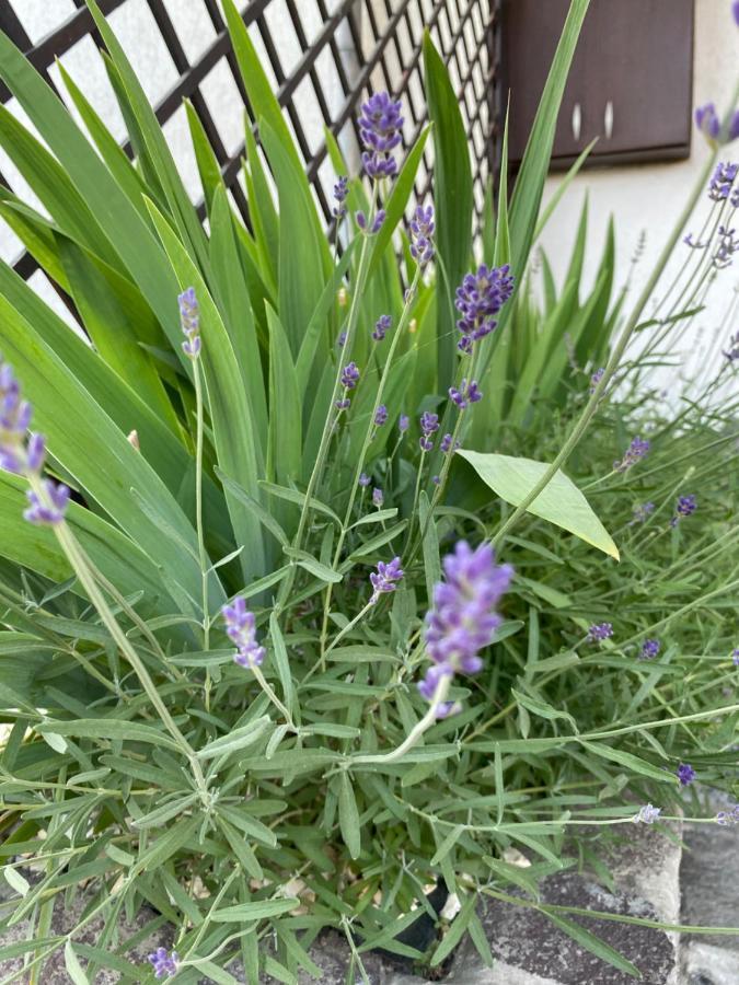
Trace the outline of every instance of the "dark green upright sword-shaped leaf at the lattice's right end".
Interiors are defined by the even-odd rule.
[[[472,251],[472,169],[459,100],[428,31],[424,35],[424,74],[434,124],[436,244],[444,275],[438,288],[438,389],[446,393],[457,368],[454,290],[467,270]]]

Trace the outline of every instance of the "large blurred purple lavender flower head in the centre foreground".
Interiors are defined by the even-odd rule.
[[[500,625],[496,605],[513,575],[509,565],[496,565],[489,544],[473,551],[464,541],[443,559],[443,570],[446,580],[436,584],[426,616],[426,649],[434,662],[418,685],[429,700],[443,677],[482,670],[480,651]]]

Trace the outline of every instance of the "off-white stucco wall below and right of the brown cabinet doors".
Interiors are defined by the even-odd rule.
[[[617,0],[616,0],[617,2]],[[715,102],[725,112],[739,78],[739,28],[730,15],[729,0],[695,0],[695,55],[693,105]],[[619,120],[614,120],[617,127]],[[645,252],[634,269],[628,297],[632,302],[653,267],[680,213],[689,190],[708,157],[708,149],[700,134],[693,135],[690,159],[677,163],[604,167],[581,172],[573,182],[564,199],[554,212],[550,225],[542,235],[542,246],[562,282],[575,239],[582,200],[590,199],[589,250],[585,278],[590,286],[600,260],[609,217],[615,220],[617,268],[616,283],[625,281],[632,256],[640,234],[646,234]],[[739,141],[721,153],[723,161],[739,161]],[[557,188],[562,176],[552,176],[546,183],[545,201]],[[689,229],[697,231],[709,207],[704,199]],[[661,287],[668,286],[684,259],[688,247],[677,251],[673,264],[668,268]],[[720,344],[724,338],[739,331],[739,304],[734,305],[734,316],[720,337],[716,338],[727,308],[739,291],[739,257],[734,266],[718,271],[707,299],[705,312],[688,327],[679,325],[672,334],[671,355],[678,357],[681,369],[656,371],[656,383],[667,385],[676,372],[692,378],[698,368],[709,363],[715,369],[721,361]],[[656,297],[659,297],[659,290]],[[628,305],[627,305],[628,310]]]

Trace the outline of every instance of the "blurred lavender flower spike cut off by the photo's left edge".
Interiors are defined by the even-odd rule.
[[[37,483],[46,459],[46,440],[36,432],[26,439],[32,418],[33,408],[23,399],[12,366],[0,357],[0,468]],[[65,519],[67,486],[42,479],[41,491],[28,489],[25,495],[28,506],[23,517],[28,523],[55,526]]]

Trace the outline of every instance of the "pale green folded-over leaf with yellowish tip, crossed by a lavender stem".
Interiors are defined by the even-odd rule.
[[[458,452],[475,470],[483,482],[511,506],[519,506],[550,467],[546,462],[511,455]],[[528,510],[542,520],[555,523],[591,544],[610,557],[620,559],[619,548],[600,522],[582,493],[564,472],[557,472],[549,486]]]

